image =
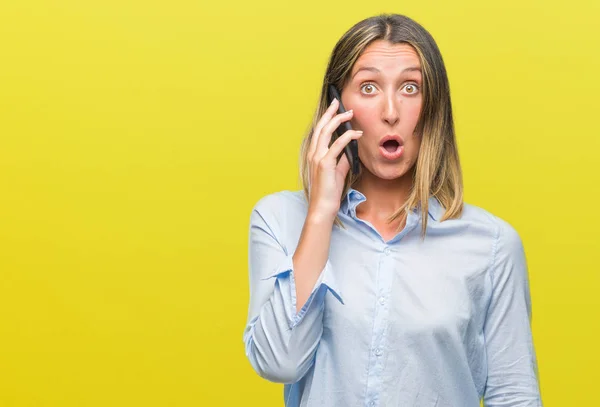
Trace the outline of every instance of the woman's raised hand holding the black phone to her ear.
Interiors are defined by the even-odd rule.
[[[336,163],[337,157],[350,140],[362,136],[362,131],[348,130],[335,140],[331,147],[328,147],[333,131],[342,122],[350,120],[353,115],[352,110],[336,114],[338,104],[338,100],[334,99],[317,123],[307,157],[310,173],[309,215],[331,220],[332,222],[339,211],[344,181],[350,170],[350,163],[346,154],[343,154],[340,161]]]

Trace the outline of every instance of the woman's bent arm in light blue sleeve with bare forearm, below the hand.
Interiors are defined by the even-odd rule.
[[[319,236],[319,227],[312,230],[307,221],[296,254],[290,255],[279,237],[281,222],[274,216],[281,203],[276,196],[266,198],[250,216],[250,304],[244,343],[246,356],[261,377],[294,383],[314,362],[323,332],[325,294],[330,290],[342,299],[327,260],[329,241]],[[316,246],[325,248],[324,256],[311,256]]]

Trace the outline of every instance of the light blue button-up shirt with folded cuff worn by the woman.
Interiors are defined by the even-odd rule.
[[[295,406],[541,407],[521,239],[465,203],[460,219],[429,200],[385,241],[351,189],[329,258],[296,313],[292,256],[303,192],[261,198],[250,216],[250,304],[243,340],[263,378]]]

